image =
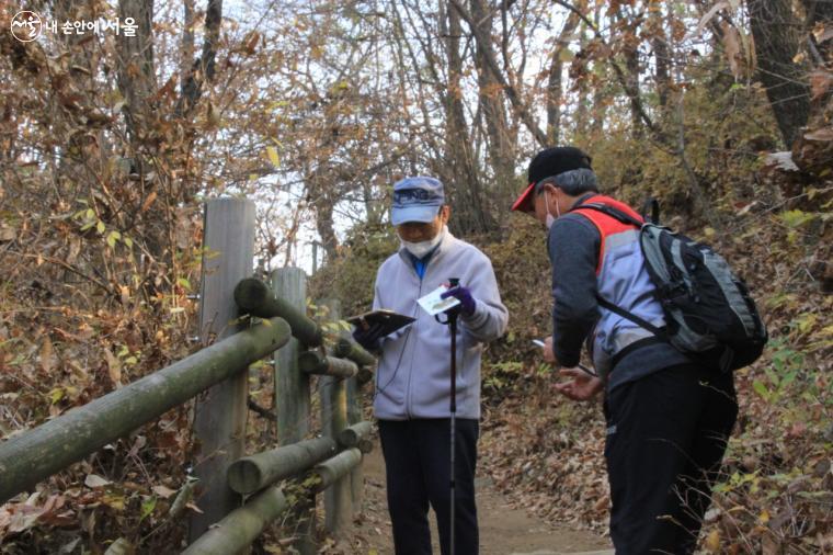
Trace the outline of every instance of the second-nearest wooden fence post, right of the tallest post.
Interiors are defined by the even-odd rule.
[[[307,274],[300,268],[281,268],[272,274],[272,291],[288,304],[307,314]],[[277,405],[277,444],[297,443],[309,433],[309,375],[298,369],[304,346],[293,338],[275,353],[275,404]],[[315,497],[293,507],[296,541],[301,555],[318,553],[316,545]]]

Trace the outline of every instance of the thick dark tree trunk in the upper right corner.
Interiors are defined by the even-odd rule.
[[[792,58],[800,44],[799,22],[789,0],[748,0],[761,82],[787,148],[810,113],[806,71]]]

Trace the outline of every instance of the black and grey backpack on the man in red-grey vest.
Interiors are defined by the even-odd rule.
[[[666,327],[657,328],[602,297],[598,304],[711,367],[729,371],[757,360],[768,335],[746,284],[711,247],[660,226],[655,200],[647,206],[652,217],[646,216],[644,223],[601,203],[573,209],[591,208],[639,228],[639,243]]]

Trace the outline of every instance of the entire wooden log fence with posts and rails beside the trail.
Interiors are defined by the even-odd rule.
[[[213,260],[214,256],[204,258],[201,333],[204,341],[214,337],[216,342],[0,443],[0,505],[207,392],[195,406],[194,444],[202,449],[210,445],[214,451],[205,456],[196,451],[191,456],[199,461],[197,477],[203,486],[194,502],[209,506],[204,506],[198,518],[191,517],[190,545],[184,553],[244,551],[287,510],[298,524],[295,550],[301,555],[318,553],[312,496],[322,490],[333,491],[338,500],[326,503],[328,530],[334,535],[342,532],[361,506],[361,462],[372,443],[370,424],[361,421],[357,392],[373,376],[376,361],[344,338],[335,338],[332,351],[323,352],[323,329],[305,314],[301,271],[282,269],[273,275],[273,286],[281,295],[259,280],[240,280],[241,274],[251,275],[253,225],[249,201],[207,203],[205,249],[220,250],[220,261]],[[263,321],[244,329],[229,325],[229,315],[241,312]],[[238,455],[241,435],[246,435],[240,427],[246,422],[247,371],[258,360],[279,353],[287,343],[292,356],[275,356],[281,444],[263,453]],[[316,348],[319,350],[309,350]],[[321,374],[324,381],[320,389],[326,435],[304,439],[311,420],[309,378],[313,374]],[[229,420],[218,422],[217,415],[228,415]],[[307,502],[290,507],[277,484],[289,478],[311,485]],[[242,496],[248,496],[244,503]]]

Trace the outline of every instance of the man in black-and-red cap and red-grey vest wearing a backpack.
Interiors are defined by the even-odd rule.
[[[601,195],[580,149],[541,150],[528,183],[512,209],[548,229],[544,356],[568,398],[604,390],[616,553],[692,553],[738,415],[731,370],[766,329],[722,258]],[[585,341],[593,374],[578,367]]]

